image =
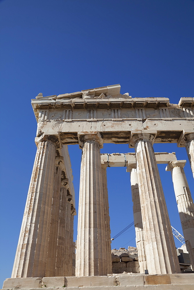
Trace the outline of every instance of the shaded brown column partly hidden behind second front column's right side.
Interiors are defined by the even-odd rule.
[[[103,186],[103,204],[104,204],[104,218],[105,218],[105,240],[106,240],[106,258],[107,273],[112,274],[112,258],[111,258],[111,240],[110,240],[110,217],[108,204],[108,190],[107,190],[107,165],[101,164],[102,186]]]

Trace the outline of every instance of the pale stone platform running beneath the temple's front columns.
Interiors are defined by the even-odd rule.
[[[8,278],[3,289],[62,290],[194,290],[194,273],[189,274],[112,274],[89,277]],[[55,288],[55,289],[54,289]]]

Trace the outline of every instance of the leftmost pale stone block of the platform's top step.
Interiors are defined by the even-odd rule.
[[[42,278],[7,278],[3,282],[2,289],[12,288],[41,288]]]

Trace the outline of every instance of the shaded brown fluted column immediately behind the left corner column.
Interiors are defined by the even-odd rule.
[[[53,202],[51,208],[51,224],[48,240],[48,253],[46,262],[45,277],[56,276],[56,257],[57,243],[59,231],[59,215],[60,215],[60,200],[61,200],[61,166],[60,161],[56,161]]]

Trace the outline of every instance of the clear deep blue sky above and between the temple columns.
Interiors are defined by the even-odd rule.
[[[193,96],[194,1],[4,0],[0,8],[1,285],[11,276],[36,153],[30,99],[40,92],[59,95],[118,83],[121,93],[132,97],[168,97],[177,104],[181,97]],[[176,144],[154,148],[187,160],[193,193],[185,149]],[[101,151],[134,152],[114,144]],[[81,150],[72,145],[69,153],[78,208]],[[125,169],[107,169],[112,236],[133,221]],[[170,222],[182,233],[171,175],[165,165],[159,170]],[[76,230],[77,217],[74,240]],[[135,246],[134,236],[132,229],[112,248]]]

